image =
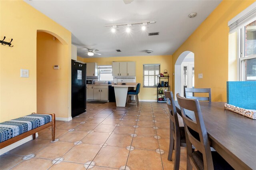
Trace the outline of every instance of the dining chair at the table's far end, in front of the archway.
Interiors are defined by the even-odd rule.
[[[190,93],[208,93],[209,97],[195,97],[191,96]],[[211,88],[204,88],[204,89],[199,89],[199,88],[185,88],[185,94],[186,98],[188,99],[198,99],[199,101],[212,101],[212,96],[211,96]]]

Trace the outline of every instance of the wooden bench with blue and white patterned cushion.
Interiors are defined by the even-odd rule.
[[[50,115],[50,116],[47,116],[47,115]],[[51,121],[49,121],[48,119],[50,119]],[[44,124],[45,121],[48,123]],[[39,123],[40,125],[38,125]],[[53,114],[32,113],[31,115],[27,115],[25,117],[20,117],[18,119],[13,119],[10,121],[0,123],[0,137],[1,137],[0,149],[10,144],[13,144],[14,142],[17,142],[23,138],[26,138],[30,135],[32,135],[33,139],[35,139],[36,132],[39,132],[40,130],[43,130],[50,126],[52,126],[52,141],[54,141],[55,140],[55,114],[54,113]],[[36,128],[33,128],[33,127],[36,127]],[[16,129],[14,130],[14,128]],[[28,131],[15,136],[15,133],[17,133],[17,130],[21,131],[22,129],[24,130],[24,128],[27,128]],[[31,130],[29,130],[29,128],[31,128]],[[8,133],[8,135],[6,133]],[[8,137],[7,140],[3,139],[4,135]]]

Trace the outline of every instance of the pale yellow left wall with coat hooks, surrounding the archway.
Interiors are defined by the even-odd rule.
[[[0,0],[0,38],[13,38],[12,44],[0,45],[0,122],[36,112],[36,34],[52,32],[66,43],[69,58],[68,107],[71,111],[71,33],[32,8],[24,1]],[[28,69],[29,77],[20,77],[20,69]],[[53,94],[54,95],[54,94]],[[71,114],[70,114],[71,115]],[[66,115],[68,117],[68,115]]]

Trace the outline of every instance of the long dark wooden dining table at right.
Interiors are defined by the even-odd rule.
[[[234,169],[256,170],[256,120],[224,109],[223,102],[199,103],[211,147]],[[194,112],[186,115],[195,121]]]

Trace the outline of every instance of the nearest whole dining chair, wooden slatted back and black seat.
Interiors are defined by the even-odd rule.
[[[233,168],[216,151],[211,151],[207,131],[204,125],[198,99],[187,99],[176,94],[180,105],[186,134],[187,170],[233,170]],[[194,112],[196,121],[187,117],[186,112]],[[199,135],[197,139],[190,129]],[[193,151],[192,145],[198,150]]]

